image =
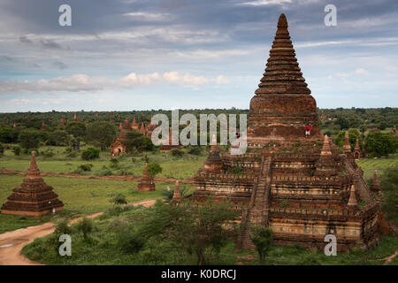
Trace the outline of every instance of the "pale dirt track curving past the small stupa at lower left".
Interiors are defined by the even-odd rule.
[[[149,207],[155,203],[155,200],[147,200],[132,204]],[[103,214],[103,212],[89,215],[88,218],[96,218],[101,214]],[[71,224],[80,219],[81,218],[73,219]],[[20,254],[20,251],[28,243],[34,241],[34,239],[53,233],[54,230],[54,224],[48,222],[40,226],[31,226],[0,234],[0,265],[41,265],[28,260],[27,257]]]

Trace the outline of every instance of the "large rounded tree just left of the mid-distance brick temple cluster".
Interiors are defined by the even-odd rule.
[[[101,150],[109,148],[115,136],[115,127],[108,122],[95,122],[86,129],[86,142],[99,146]]]

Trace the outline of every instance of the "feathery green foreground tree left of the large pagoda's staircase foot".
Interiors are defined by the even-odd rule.
[[[229,203],[209,200],[198,206],[189,201],[179,205],[158,201],[141,233],[147,239],[157,236],[172,241],[184,250],[188,264],[193,255],[197,257],[197,264],[208,264],[212,251],[219,251],[235,236],[235,218],[236,210],[232,210]],[[207,255],[206,249],[210,249]]]

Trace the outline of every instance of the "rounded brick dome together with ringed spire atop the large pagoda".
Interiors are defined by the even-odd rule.
[[[287,19],[281,14],[264,76],[250,102],[249,138],[302,138],[308,124],[311,136],[319,138],[317,103],[310,93],[295,57]]]

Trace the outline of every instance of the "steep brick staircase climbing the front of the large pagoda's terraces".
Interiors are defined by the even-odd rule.
[[[272,157],[263,157],[260,175],[256,185],[253,187],[249,208],[243,211],[241,219],[242,231],[238,239],[238,248],[254,249],[250,241],[249,228],[251,226],[268,226],[270,210],[271,180],[272,180]]]

